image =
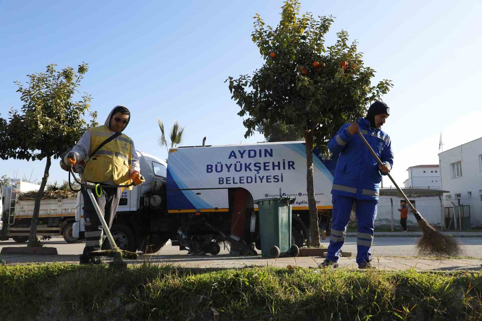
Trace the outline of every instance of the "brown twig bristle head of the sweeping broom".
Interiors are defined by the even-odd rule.
[[[430,226],[423,217],[417,223],[423,232],[422,238],[417,243],[419,254],[441,256],[457,256],[461,254],[460,243],[452,235],[440,233]]]

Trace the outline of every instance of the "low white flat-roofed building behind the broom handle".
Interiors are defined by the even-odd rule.
[[[403,193],[422,216],[439,229],[444,228],[444,204],[443,191],[440,189],[428,188],[402,188]],[[378,208],[375,219],[376,228],[391,228],[395,231],[402,231],[400,225],[400,212],[404,202],[402,196],[396,188],[380,188]],[[408,211],[407,219],[408,230],[418,229],[418,224],[413,213]]]

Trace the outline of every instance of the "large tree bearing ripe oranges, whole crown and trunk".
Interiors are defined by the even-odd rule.
[[[347,31],[338,32],[336,42],[325,47],[332,16],[300,15],[299,8],[299,1],[285,1],[276,28],[256,13],[251,36],[264,63],[252,76],[226,81],[231,98],[241,107],[238,115],[244,118],[246,138],[260,125],[269,135],[270,126],[279,122],[293,125],[305,138],[310,237],[311,244],[318,246],[312,148],[329,156],[328,142],[338,128],[363,116],[392,84],[385,79],[372,85],[375,70],[363,64],[357,41],[349,44]]]

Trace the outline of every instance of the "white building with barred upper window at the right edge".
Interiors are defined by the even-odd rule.
[[[445,215],[455,213],[456,229],[482,227],[482,137],[443,151],[439,165]]]

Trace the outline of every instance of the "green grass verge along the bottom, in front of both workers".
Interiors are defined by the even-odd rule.
[[[0,266],[1,320],[481,320],[482,273]]]

